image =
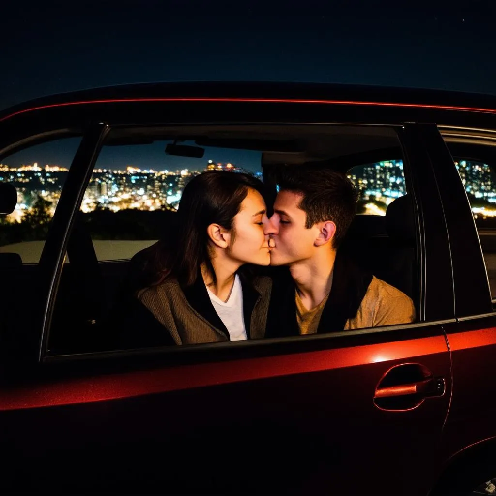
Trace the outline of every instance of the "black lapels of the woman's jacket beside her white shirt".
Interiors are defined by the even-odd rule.
[[[259,293],[255,290],[251,281],[249,280],[246,270],[241,268],[238,271],[240,276],[241,288],[243,291],[243,318],[245,321],[245,329],[247,331],[247,337],[251,337],[251,314],[255,307],[255,303],[259,298]],[[230,339],[229,332],[222,322],[221,318],[215,311],[210,297],[208,296],[208,290],[203,282],[203,277],[201,276],[201,271],[198,270],[198,275],[196,281],[191,286],[186,286],[181,284],[181,289],[186,297],[189,305],[197,311],[205,320],[210,322],[211,325],[216,327],[218,330],[223,332],[228,339]]]

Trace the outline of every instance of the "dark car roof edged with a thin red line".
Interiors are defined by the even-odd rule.
[[[248,100],[364,103],[496,112],[496,96],[437,89],[264,81],[186,81],[123,84],[46,96],[0,112],[0,121],[40,108],[106,101]]]

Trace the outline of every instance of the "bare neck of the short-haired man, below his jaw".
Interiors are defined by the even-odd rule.
[[[312,258],[290,266],[296,290],[307,310],[320,305],[330,293],[335,259],[335,250],[322,250]]]

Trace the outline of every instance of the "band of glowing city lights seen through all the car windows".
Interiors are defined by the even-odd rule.
[[[262,179],[261,171],[248,171],[236,163],[218,163],[201,159],[202,167],[176,171],[140,169],[126,166],[118,169],[95,168],[84,193],[80,209],[84,213],[96,209],[113,212],[126,209],[176,210],[188,181],[206,170],[247,172]],[[487,164],[474,161],[455,162],[462,183],[472,198],[475,217],[496,217],[496,182]],[[20,222],[32,212],[40,198],[46,203],[47,214],[52,216],[68,168],[39,163],[19,167],[0,164],[0,181],[14,184],[18,203],[7,221]],[[402,160],[382,161],[350,169],[348,177],[359,190],[361,213],[385,215],[387,205],[406,194]],[[38,202],[38,203],[37,203]],[[494,205],[494,206],[493,206]]]

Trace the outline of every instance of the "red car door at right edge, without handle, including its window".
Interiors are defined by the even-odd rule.
[[[495,194],[494,130],[441,126],[441,132],[442,137],[426,132],[424,141],[436,150],[434,169],[446,211],[457,321],[445,326],[453,394],[442,441],[450,463],[438,487],[446,493],[468,493],[496,477],[495,209],[489,201]]]

